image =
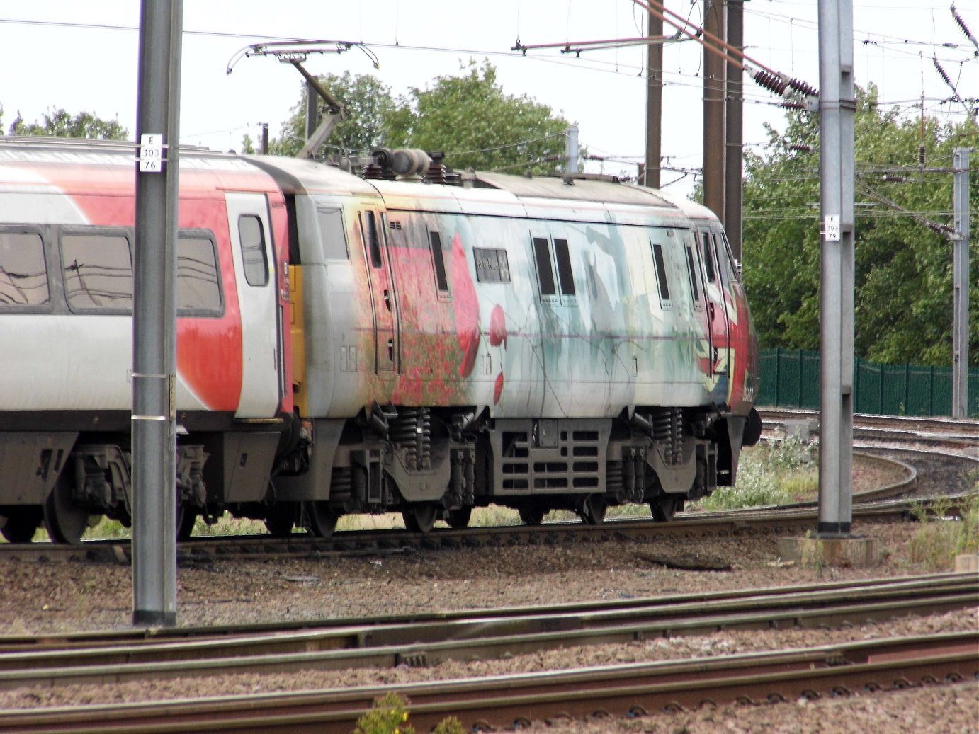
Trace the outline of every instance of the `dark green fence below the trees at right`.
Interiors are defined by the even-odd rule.
[[[819,353],[763,349],[758,404],[819,409]],[[952,414],[952,368],[876,364],[857,359],[854,410],[879,415]],[[979,368],[969,370],[968,414],[979,418]]]

